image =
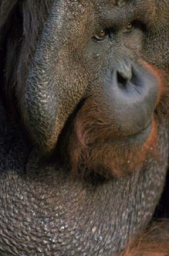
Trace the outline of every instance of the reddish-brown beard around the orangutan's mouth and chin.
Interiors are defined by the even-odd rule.
[[[99,108],[97,99],[89,98],[79,110],[74,121],[74,129],[69,139],[69,151],[74,174],[78,168],[104,172],[105,176],[122,176],[142,165],[148,154],[157,157],[157,127],[155,120],[148,140],[143,146],[128,148],[108,123]],[[118,138],[119,137],[119,138]],[[115,140],[115,143],[110,141]],[[120,143],[120,147],[116,143]],[[127,142],[126,142],[127,143]],[[119,148],[121,148],[119,150]],[[104,171],[105,170],[105,171]],[[106,171],[109,170],[109,173]],[[83,169],[85,174],[86,168]]]

